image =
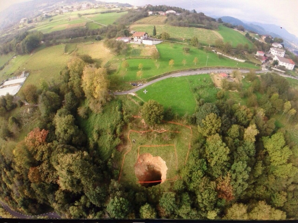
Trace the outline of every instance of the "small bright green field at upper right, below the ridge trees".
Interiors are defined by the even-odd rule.
[[[219,26],[218,29],[217,32],[224,38],[224,42],[230,42],[232,47],[236,47],[239,43],[243,45],[247,43],[249,47],[252,47],[252,43],[238,31],[226,26]]]

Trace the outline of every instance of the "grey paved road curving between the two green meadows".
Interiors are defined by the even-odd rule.
[[[134,93],[136,91],[139,91],[145,87],[147,87],[150,84],[156,83],[160,80],[164,80],[166,78],[175,78],[175,77],[181,77],[181,76],[189,76],[189,75],[199,75],[199,74],[208,74],[208,73],[231,73],[232,71],[237,70],[240,71],[241,73],[248,73],[250,70],[245,70],[245,69],[198,69],[198,70],[193,70],[193,71],[181,71],[181,72],[177,72],[177,73],[173,73],[173,74],[169,74],[169,75],[165,75],[159,78],[156,78],[154,80],[151,80],[145,84],[143,84],[142,86],[136,87],[134,89],[128,90],[128,91],[121,91],[121,92],[114,92],[114,95],[119,95],[119,94],[130,94],[130,93]],[[256,71],[256,74],[260,74],[260,73],[266,73],[269,72],[269,70],[259,70]]]

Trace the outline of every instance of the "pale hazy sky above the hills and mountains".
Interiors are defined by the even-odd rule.
[[[11,4],[29,0],[0,0],[0,10]],[[62,0],[63,1],[63,0]],[[101,0],[103,1],[103,0]],[[193,8],[209,16],[232,16],[240,20],[275,24],[298,37],[298,0],[104,0],[107,2]]]

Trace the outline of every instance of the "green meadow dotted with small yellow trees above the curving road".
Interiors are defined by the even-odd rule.
[[[183,47],[190,48],[190,53],[184,53]],[[206,62],[207,67],[236,67],[237,65],[237,61],[234,61],[226,57],[218,58],[218,55],[213,52],[206,53],[206,51],[197,49],[190,45],[163,42],[161,44],[156,45],[156,48],[160,53],[160,58],[157,60],[157,62],[153,59],[144,58],[128,59],[127,62],[129,64],[129,67],[127,68],[127,71],[125,70],[125,68],[119,66],[118,71],[111,75],[111,79],[119,79],[120,81],[124,82],[139,81],[142,79],[161,75],[170,71],[205,67]],[[196,65],[193,62],[195,57],[198,58],[198,62],[196,63]],[[173,67],[169,65],[169,61],[171,59],[174,60]],[[182,63],[184,59],[186,60],[185,66]],[[139,64],[143,64],[143,74],[141,77],[136,76],[136,72],[139,71]],[[157,67],[157,65],[159,66]],[[243,67],[247,69],[258,68],[255,67],[253,64],[241,62],[238,62],[238,67]],[[116,85],[119,85],[119,83],[116,83]]]

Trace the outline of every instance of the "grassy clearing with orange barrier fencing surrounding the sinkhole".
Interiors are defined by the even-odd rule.
[[[133,120],[132,127],[139,126],[140,119]],[[119,164],[123,167],[120,176],[121,182],[131,182],[132,185],[137,185],[138,178],[135,175],[134,165],[137,161],[138,150],[139,154],[150,153],[152,156],[160,156],[167,165],[166,179],[175,180],[178,176],[177,170],[184,166],[187,158],[189,143],[191,141],[191,130],[185,126],[177,124],[162,124],[162,129],[176,131],[176,132],[130,132],[129,139],[136,140],[136,143],[127,141],[125,148],[122,151],[124,160],[120,160]],[[135,129],[132,129],[135,130]],[[138,129],[144,130],[144,129]],[[128,133],[125,136],[128,137]],[[141,144],[142,143],[142,144]],[[159,146],[154,146],[159,145]],[[139,147],[140,146],[140,147]],[[176,152],[175,152],[176,149]],[[167,182],[167,181],[166,181]],[[159,184],[163,189],[167,186],[166,183]]]

